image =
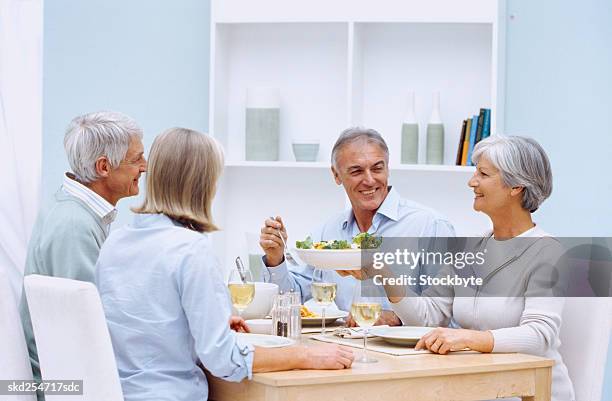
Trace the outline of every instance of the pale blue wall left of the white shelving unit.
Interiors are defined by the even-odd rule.
[[[209,1],[49,0],[44,23],[43,199],[68,168],[62,139],[78,114],[132,116],[147,149],[172,126],[208,129]],[[135,202],[119,202],[115,226]]]

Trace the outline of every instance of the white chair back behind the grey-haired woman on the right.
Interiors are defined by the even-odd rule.
[[[612,328],[612,298],[567,298],[561,326],[561,355],[576,401],[601,401]]]

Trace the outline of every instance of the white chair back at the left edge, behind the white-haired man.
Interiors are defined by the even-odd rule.
[[[0,327],[0,380],[32,380],[32,366],[15,295],[3,270],[0,270]],[[0,401],[35,400],[35,395],[0,395]]]

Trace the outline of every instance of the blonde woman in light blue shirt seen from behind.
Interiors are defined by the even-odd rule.
[[[352,364],[345,347],[264,349],[243,344],[230,329],[248,328],[231,317],[219,262],[203,235],[217,230],[211,206],[222,170],[214,138],[184,128],[162,133],[151,148],[134,222],[102,247],[96,284],[126,401],[205,400],[200,364],[229,381]]]

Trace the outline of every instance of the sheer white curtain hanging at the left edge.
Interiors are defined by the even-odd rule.
[[[0,0],[0,269],[18,299],[40,199],[42,0]]]

